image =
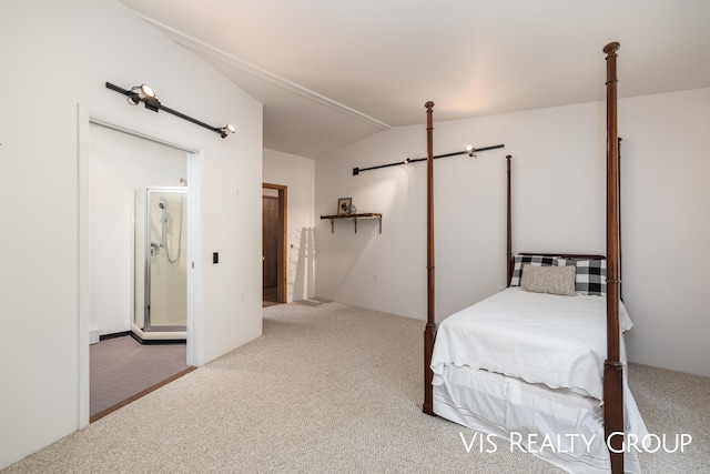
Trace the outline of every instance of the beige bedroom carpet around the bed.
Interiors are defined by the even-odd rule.
[[[264,336],[10,466],[7,473],[558,473],[468,453],[473,432],[422,413],[424,323],[339,303],[264,309]],[[710,379],[631,365],[652,433],[646,473],[706,473]]]

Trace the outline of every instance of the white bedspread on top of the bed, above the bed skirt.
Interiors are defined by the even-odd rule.
[[[606,304],[605,296],[558,296],[518,288],[496,293],[440,323],[432,357],[434,385],[443,383],[444,366],[454,364],[601,401]],[[619,317],[622,331],[631,329],[623,304]]]

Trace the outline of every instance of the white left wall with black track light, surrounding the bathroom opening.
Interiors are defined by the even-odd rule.
[[[79,130],[87,125],[78,104],[202,153],[201,363],[262,330],[262,105],[113,0],[2,1],[0,56],[0,88],[8,92],[0,114],[6,466],[73,432],[83,416],[79,190],[87,183],[79,179]],[[149,83],[166,105],[215,125],[232,122],[237,134],[222,140],[174,115],[130,107],[106,81]],[[207,264],[214,251],[220,264]]]

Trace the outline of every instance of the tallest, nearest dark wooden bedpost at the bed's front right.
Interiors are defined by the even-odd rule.
[[[607,54],[607,360],[604,369],[604,424],[611,472],[623,474],[623,365],[619,341],[619,148],[617,134],[617,50]]]

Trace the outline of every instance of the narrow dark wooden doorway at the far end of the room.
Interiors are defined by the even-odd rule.
[[[286,302],[286,186],[262,186],[262,301]]]

